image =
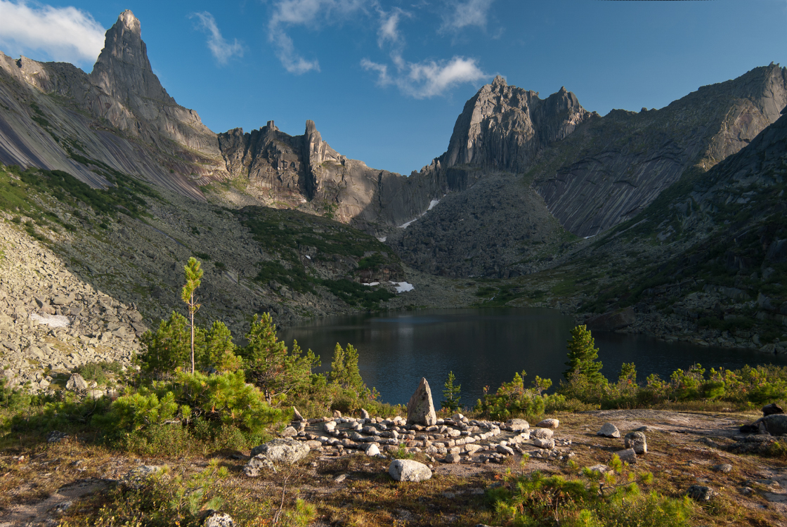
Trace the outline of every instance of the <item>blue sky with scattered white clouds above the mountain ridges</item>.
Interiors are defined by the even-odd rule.
[[[497,74],[604,115],[787,65],[787,0],[0,0],[0,50],[90,72],[124,9],[169,94],[213,131],[275,120],[297,135],[312,119],[338,152],[405,174],[445,151]]]

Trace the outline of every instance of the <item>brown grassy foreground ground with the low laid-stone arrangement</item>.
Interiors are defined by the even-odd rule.
[[[170,477],[174,477],[202,470],[209,459],[227,467],[230,476],[224,485],[237,496],[257,500],[278,496],[276,503],[279,499],[290,503],[298,496],[316,504],[317,518],[312,525],[359,521],[364,525],[499,525],[486,507],[484,492],[500,485],[501,474],[539,470],[570,475],[569,460],[578,466],[609,470],[611,455],[626,448],[624,436],[634,429],[644,430],[647,453],[632,458],[632,468],[652,472],[655,481],[651,487],[668,496],[682,496],[694,488],[693,496],[701,506],[697,525],[787,525],[787,471],[783,463],[742,453],[737,447],[746,441],[738,426],[756,415],[619,410],[554,417],[558,422],[549,425],[556,428],[515,430],[511,428],[523,424],[443,418],[427,429],[405,426],[396,418],[312,419],[294,423],[297,429],[286,431],[294,433],[300,440],[297,442],[310,446],[305,457],[287,470],[261,470],[254,477],[245,471],[254,452],[134,459],[91,447],[86,437],[65,437],[35,448],[12,448],[0,457],[4,473],[0,477],[0,495],[4,496],[0,499],[0,525],[54,525],[51,522],[68,520],[79,510],[87,510],[83,507],[91,506],[91,495],[124,485],[127,475],[139,473],[141,466],[167,464]],[[619,429],[619,437],[599,435],[610,425]],[[386,450],[389,445],[383,443],[383,434],[393,436],[397,429],[401,434],[397,440],[405,444],[405,452],[397,455],[408,455],[408,451],[415,461],[430,466],[428,480],[396,482],[388,474],[393,452]],[[545,435],[551,435],[556,444],[552,447],[548,440],[545,448],[539,448],[537,436],[541,432],[537,430],[546,430]],[[349,437],[340,439],[343,434]],[[475,437],[478,440],[467,441]],[[375,440],[368,441],[370,438]],[[465,444],[458,444],[462,439]],[[339,440],[342,447],[331,445],[333,440]],[[451,440],[453,446],[449,446]],[[378,444],[380,455],[368,446]],[[360,445],[367,445],[365,451]],[[523,453],[530,454],[529,459]],[[371,506],[372,496],[378,506],[385,506]]]

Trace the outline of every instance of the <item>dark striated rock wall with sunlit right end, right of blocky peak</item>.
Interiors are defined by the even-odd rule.
[[[613,110],[546,150],[534,189],[563,227],[599,234],[630,219],[685,170],[748,145],[787,105],[787,68],[754,68],[660,110]]]

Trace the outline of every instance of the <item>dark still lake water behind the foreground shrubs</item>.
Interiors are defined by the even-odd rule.
[[[545,308],[456,309],[393,312],[316,319],[279,332],[290,346],[320,355],[330,370],[334,346],[352,344],[359,355],[360,374],[381,400],[407,404],[422,377],[432,389],[435,405],[449,371],[462,385],[462,403],[472,406],[484,386],[496,390],[515,372],[527,371],[525,384],[536,375],[554,385],[566,369],[566,342],[574,327],[571,317]],[[676,369],[700,363],[711,367],[742,367],[774,363],[787,366],[787,356],[745,349],[668,343],[643,335],[593,334],[602,372],[616,379],[622,363],[637,365],[637,378],[652,373],[662,378]]]

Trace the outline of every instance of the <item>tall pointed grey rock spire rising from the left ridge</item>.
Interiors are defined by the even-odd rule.
[[[150,68],[139,19],[128,9],[120,13],[115,25],[106,32],[104,49],[93,67],[91,82],[109,96],[127,101],[134,110],[145,105],[140,98],[176,104]]]

